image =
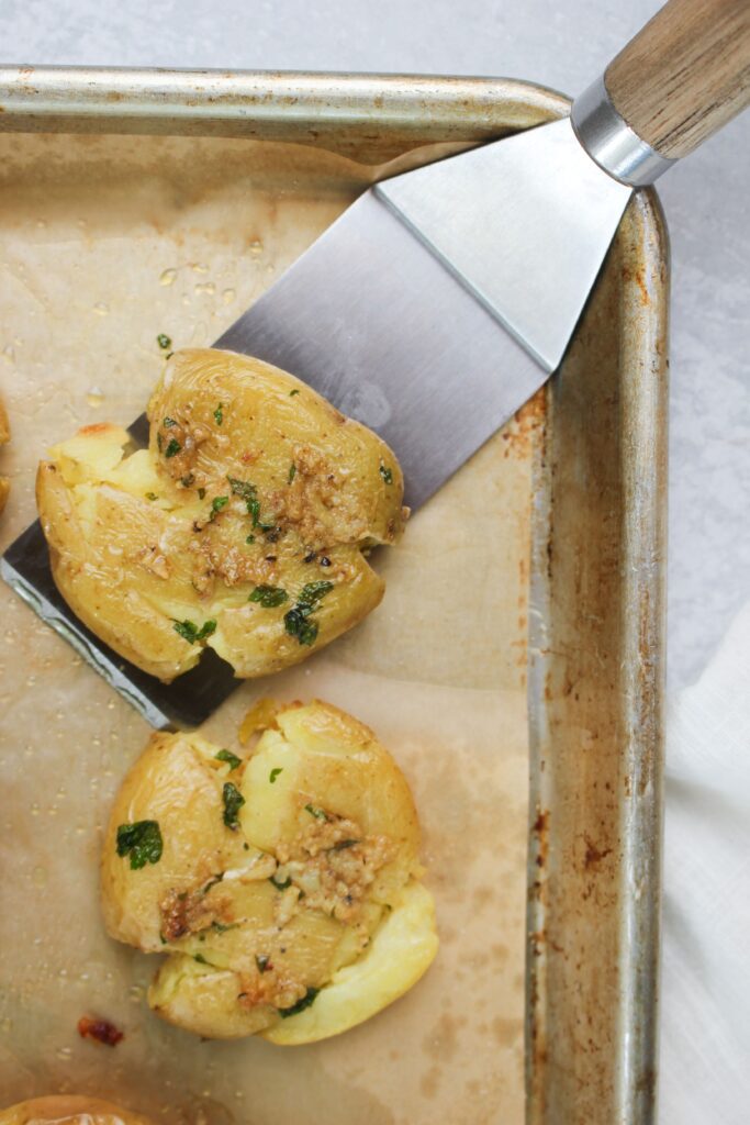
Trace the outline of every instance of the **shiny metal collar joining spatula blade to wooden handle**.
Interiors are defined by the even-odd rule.
[[[576,136],[591,160],[621,183],[633,188],[647,187],[677,163],[642,141],[620,116],[612,104],[604,74],[576,98],[570,119]]]

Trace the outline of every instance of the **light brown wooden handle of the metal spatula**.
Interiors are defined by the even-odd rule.
[[[750,0],[669,0],[604,81],[647,144],[686,156],[750,104]]]

